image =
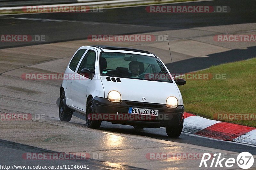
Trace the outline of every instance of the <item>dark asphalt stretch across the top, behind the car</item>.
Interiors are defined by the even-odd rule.
[[[229,6],[231,11],[228,13],[148,13],[145,10],[146,7],[142,6],[108,9],[103,13],[44,13],[8,16],[14,18],[0,16],[1,34],[46,35],[49,39],[44,43],[49,43],[82,40],[95,34],[145,33],[200,26],[252,23],[256,18],[254,0],[220,0],[173,5],[188,4]],[[17,18],[32,18],[32,20]],[[42,42],[38,42],[40,43]],[[1,43],[0,48],[35,44],[37,43]]]

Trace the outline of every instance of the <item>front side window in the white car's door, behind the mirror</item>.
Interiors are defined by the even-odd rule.
[[[89,69],[93,71],[95,69],[95,60],[96,60],[96,53],[92,50],[89,50],[87,54],[84,56],[84,59],[81,62],[77,73],[81,73],[82,69]]]

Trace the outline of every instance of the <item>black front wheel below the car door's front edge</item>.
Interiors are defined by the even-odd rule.
[[[86,125],[88,128],[92,129],[98,129],[101,125],[101,121],[98,120],[92,120],[92,114],[96,113],[95,110],[95,104],[92,99],[90,99],[87,103],[87,108],[86,108]]]

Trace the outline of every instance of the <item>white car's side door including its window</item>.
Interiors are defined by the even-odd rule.
[[[74,78],[71,81],[71,98],[74,107],[85,110],[86,107],[86,90],[91,79],[81,73],[82,69],[95,71],[97,51],[89,49],[84,55],[79,67],[76,69]]]

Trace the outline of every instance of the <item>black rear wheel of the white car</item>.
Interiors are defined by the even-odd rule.
[[[65,93],[62,92],[60,97],[60,106],[59,106],[59,116],[61,121],[69,122],[72,118],[73,110],[68,108],[66,104],[66,96]]]

